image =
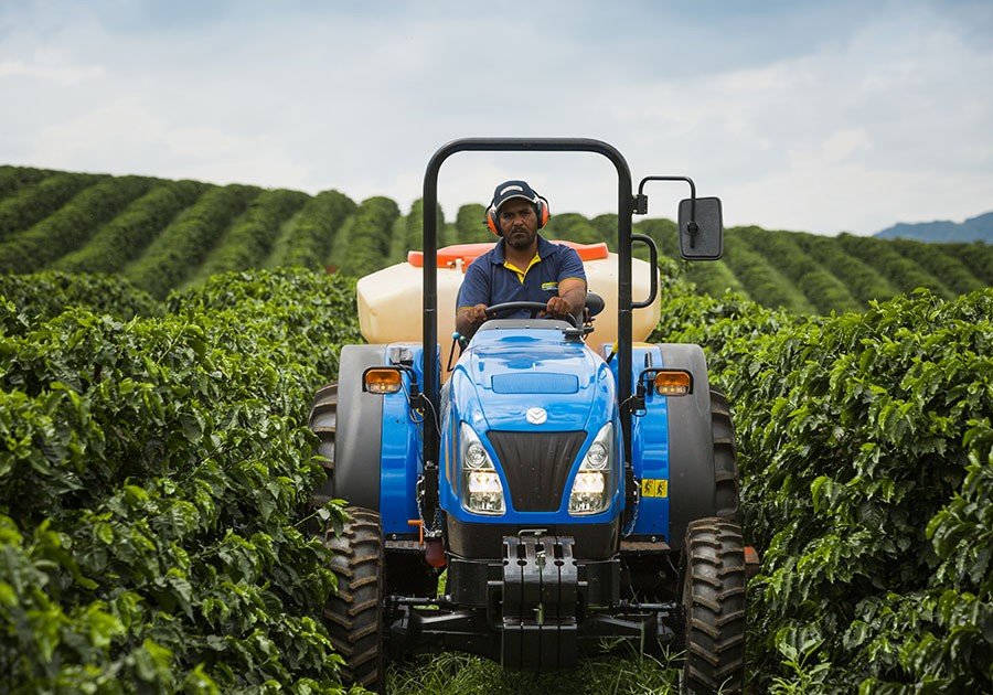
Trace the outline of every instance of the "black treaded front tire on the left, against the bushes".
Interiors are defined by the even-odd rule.
[[[384,687],[383,542],[380,514],[350,506],[341,535],[329,530],[324,546],[333,552],[331,569],[338,591],[324,605],[331,643],[344,659],[341,680],[371,691]]]

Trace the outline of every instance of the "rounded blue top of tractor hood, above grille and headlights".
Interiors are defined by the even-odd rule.
[[[552,328],[516,328],[508,321],[508,328],[476,334],[451,379],[459,419],[481,434],[596,434],[612,419],[615,383],[608,365],[586,343],[566,339],[564,324],[548,323]]]

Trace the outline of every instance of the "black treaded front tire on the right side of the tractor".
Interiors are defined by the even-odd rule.
[[[737,524],[700,518],[686,528],[683,693],[745,687],[745,542]]]

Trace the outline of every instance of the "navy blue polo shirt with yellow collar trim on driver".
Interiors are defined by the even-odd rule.
[[[568,246],[553,244],[537,236],[537,256],[526,268],[515,268],[506,263],[504,245],[496,246],[472,261],[466,270],[466,279],[459,288],[457,309],[476,304],[502,304],[508,301],[540,301],[546,303],[558,295],[558,284],[568,278],[586,281],[586,271],[579,254]],[[526,319],[528,311],[502,318]]]

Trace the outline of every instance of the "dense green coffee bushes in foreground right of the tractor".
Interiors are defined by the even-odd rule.
[[[663,335],[704,344],[735,405],[761,683],[989,691],[993,289],[810,321],[676,308]]]

